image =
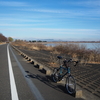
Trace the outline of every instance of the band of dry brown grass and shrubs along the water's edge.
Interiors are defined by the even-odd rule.
[[[95,50],[86,49],[84,45],[68,44],[57,46],[45,46],[40,42],[26,42],[17,40],[12,43],[19,46],[20,49],[28,50],[48,50],[51,52],[51,59],[55,59],[54,55],[64,55],[79,60],[81,63],[100,63],[100,46],[95,46]]]

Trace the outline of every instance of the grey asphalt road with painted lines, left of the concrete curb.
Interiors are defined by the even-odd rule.
[[[83,100],[66,93],[9,44],[0,45],[0,100]]]

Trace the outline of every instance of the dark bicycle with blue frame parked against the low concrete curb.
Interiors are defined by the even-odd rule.
[[[60,59],[62,59],[62,57],[57,56],[57,58],[59,59],[59,63],[60,63]],[[74,77],[71,75],[71,70],[69,66],[69,63],[72,62],[75,62],[74,66],[76,66],[78,63],[78,61],[72,61],[72,59],[69,60],[65,59],[63,61],[63,64],[61,64],[59,68],[54,69],[52,75],[54,82],[61,81],[65,75],[68,75],[66,78],[65,88],[69,94],[74,94],[76,92],[76,82]]]

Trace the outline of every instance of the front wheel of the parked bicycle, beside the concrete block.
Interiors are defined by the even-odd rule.
[[[65,87],[69,94],[74,94],[76,92],[76,82],[73,76],[70,75],[66,78]]]

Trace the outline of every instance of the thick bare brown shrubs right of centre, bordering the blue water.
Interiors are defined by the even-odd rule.
[[[84,62],[100,62],[100,48],[96,50],[86,49],[85,45],[66,44],[53,47],[53,51],[62,55],[71,56]]]

